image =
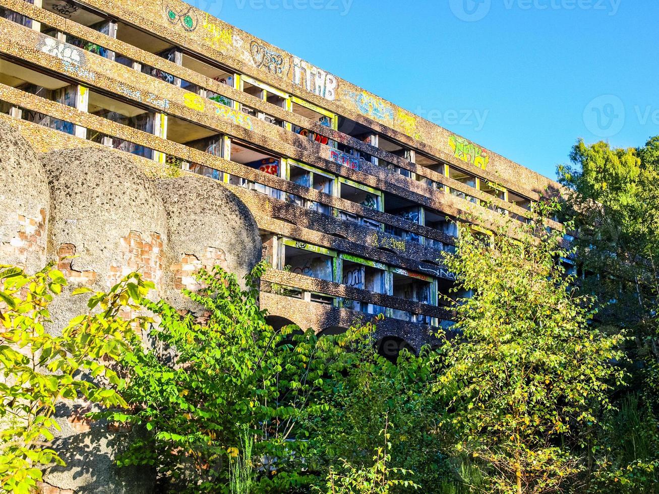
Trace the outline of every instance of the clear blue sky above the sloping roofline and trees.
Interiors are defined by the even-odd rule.
[[[192,3],[548,177],[659,134],[657,0]]]

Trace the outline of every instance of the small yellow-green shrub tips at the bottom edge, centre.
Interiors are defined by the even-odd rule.
[[[328,494],[389,494],[397,487],[405,489],[405,491],[418,489],[419,485],[413,481],[392,478],[392,476],[410,476],[412,472],[404,468],[388,466],[391,462],[391,455],[388,453],[391,443],[387,433],[388,422],[386,419],[385,422],[385,428],[380,432],[384,436],[385,445],[376,449],[372,466],[355,468],[349,462],[342,460],[344,473],[336,472],[333,466],[330,466],[326,490],[314,490]]]

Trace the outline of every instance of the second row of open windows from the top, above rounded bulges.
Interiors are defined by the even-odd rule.
[[[9,76],[8,74],[13,74],[13,76]],[[223,157],[246,167],[257,169],[268,175],[275,175],[289,180],[306,189],[318,190],[319,192],[328,194],[328,196],[351,201],[369,209],[374,209],[374,211],[402,217],[418,225],[442,231],[447,235],[455,235],[457,233],[455,223],[449,221],[441,213],[430,211],[388,192],[377,190],[347,178],[337,177],[306,163],[287,159],[270,151],[256,148],[241,140],[217,134],[215,130],[184,121],[173,115],[148,111],[130,105],[125,101],[114,99],[111,96],[100,94],[96,90],[89,90],[76,84],[69,84],[64,80],[58,80],[53,78],[53,76],[47,76],[28,67],[22,67],[9,61],[0,60],[0,82],[7,81],[9,77],[11,77],[13,85],[20,90],[36,94],[45,99],[78,107],[78,109],[84,107],[92,115],[103,117],[104,119],[129,126],[130,128],[136,128],[143,132],[156,134],[161,138],[167,138],[190,148],[209,153],[210,155]],[[2,103],[2,106],[2,111],[11,113],[16,118],[49,126],[69,134],[76,134],[79,137],[87,138],[94,142],[148,159],[154,159],[156,161],[165,161],[165,159],[168,159],[163,153],[152,150],[142,144],[103,134],[103,132],[80,128],[72,123],[60,121],[36,111],[14,108],[7,103]],[[169,158],[169,161],[175,163],[177,167],[183,167],[201,175],[256,190],[256,192],[268,194],[273,198],[285,200],[297,206],[312,209],[318,213],[333,215],[345,221],[379,229],[405,240],[426,244],[438,249],[453,249],[452,246],[444,242],[426,238],[419,234],[400,229],[399,227],[383,224],[368,217],[361,217],[350,211],[342,211],[323,202],[316,202],[298,196],[297,194],[291,194],[291,192],[277,190],[265,184],[252,182],[243,177],[221,173],[218,170],[198,163],[187,163],[175,157]]]

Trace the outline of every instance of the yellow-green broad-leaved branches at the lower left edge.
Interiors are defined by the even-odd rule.
[[[58,400],[127,406],[115,391],[123,379],[107,363],[121,359],[146,323],[144,317],[125,320],[120,313],[138,309],[152,285],[129,275],[109,293],[94,294],[89,314],[74,317],[56,336],[49,305],[67,285],[60,271],[49,264],[27,275],[0,265],[0,281],[0,491],[28,493],[44,468],[64,464],[49,447],[53,429],[59,429],[53,418]]]

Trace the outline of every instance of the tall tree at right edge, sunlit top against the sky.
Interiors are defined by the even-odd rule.
[[[659,137],[640,148],[573,147],[559,167],[565,216],[575,223],[583,289],[602,302],[598,320],[633,330],[634,360],[657,362]]]

